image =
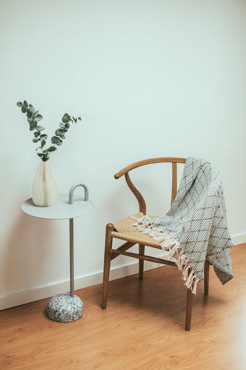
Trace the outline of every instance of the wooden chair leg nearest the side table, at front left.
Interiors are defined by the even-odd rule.
[[[110,249],[112,248],[112,236],[111,233],[114,231],[114,225],[108,223],[106,226],[105,235],[105,253],[104,253],[104,268],[103,268],[103,283],[102,283],[102,308],[106,308],[107,296],[108,296],[108,279],[110,269]]]

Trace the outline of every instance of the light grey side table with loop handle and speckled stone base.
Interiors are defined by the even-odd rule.
[[[82,186],[85,189],[85,197],[74,196],[74,189]],[[22,203],[21,209],[30,216],[48,220],[69,219],[70,239],[70,294],[62,293],[53,296],[47,306],[47,316],[54,321],[69,323],[83,316],[83,302],[74,295],[74,259],[73,259],[73,219],[90,213],[94,205],[89,200],[89,190],[84,184],[75,184],[68,194],[59,194],[58,201],[51,207],[37,207],[32,199]]]

